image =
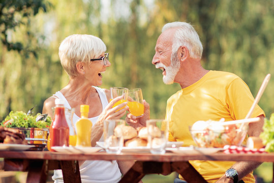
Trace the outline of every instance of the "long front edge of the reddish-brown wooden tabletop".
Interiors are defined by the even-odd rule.
[[[97,152],[93,154],[62,154],[49,151],[0,151],[1,158],[17,159],[41,159],[41,160],[120,160],[120,161],[155,161],[155,162],[176,162],[189,160],[212,160],[212,161],[256,161],[274,162],[274,153],[265,154],[175,154],[153,155],[150,153],[122,153],[120,155]]]

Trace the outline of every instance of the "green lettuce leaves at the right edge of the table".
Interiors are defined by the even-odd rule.
[[[264,118],[263,132],[260,134],[260,138],[265,144],[265,151],[274,152],[274,113],[270,118]]]

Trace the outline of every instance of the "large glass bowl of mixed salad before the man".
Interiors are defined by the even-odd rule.
[[[248,124],[223,121],[197,121],[190,127],[190,133],[198,147],[240,146],[248,132]]]

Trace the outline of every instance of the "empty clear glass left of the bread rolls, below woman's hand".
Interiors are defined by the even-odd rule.
[[[124,119],[106,119],[104,120],[104,146],[107,153],[119,154],[124,145],[122,126],[126,125]]]

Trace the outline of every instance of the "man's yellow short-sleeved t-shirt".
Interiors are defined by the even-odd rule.
[[[167,101],[169,141],[184,141],[184,146],[196,145],[189,127],[198,120],[225,121],[243,119],[254,101],[249,87],[238,76],[228,72],[209,71],[199,81],[179,90]],[[265,115],[257,105],[252,117]],[[215,182],[235,162],[189,161],[207,180]],[[181,176],[179,176],[182,178]],[[243,181],[255,182],[252,172]]]

